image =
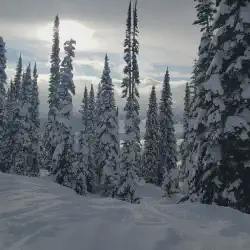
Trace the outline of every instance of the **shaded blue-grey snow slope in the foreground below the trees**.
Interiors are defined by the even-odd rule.
[[[0,174],[1,250],[249,249],[250,218],[229,208],[167,204],[140,184],[140,205],[81,197],[49,180]]]

